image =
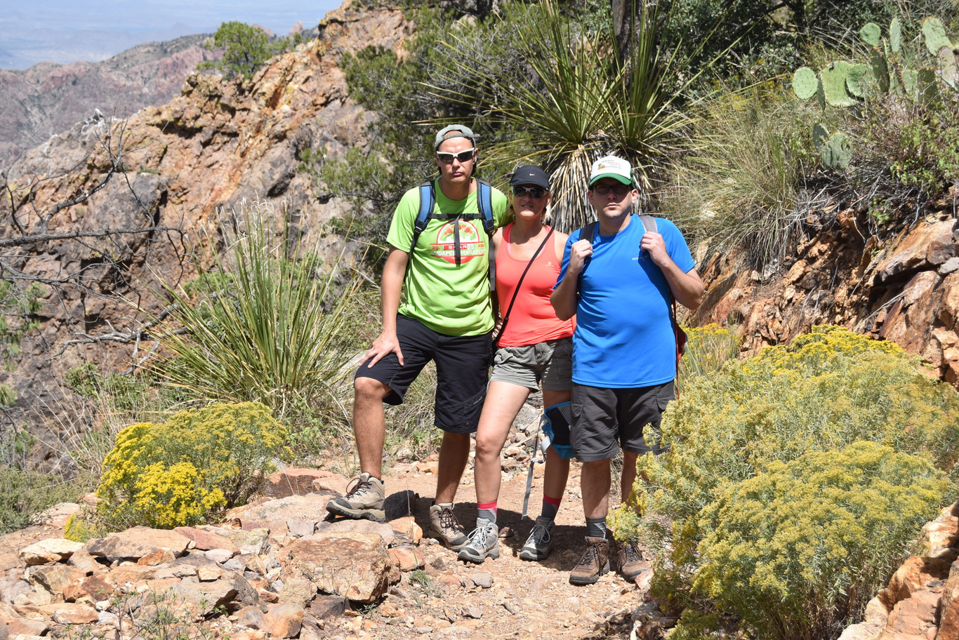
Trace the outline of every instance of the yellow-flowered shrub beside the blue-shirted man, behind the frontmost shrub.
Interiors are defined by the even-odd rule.
[[[649,483],[636,484],[631,504],[643,514],[638,534],[658,550],[654,588],[692,606],[700,542],[718,526],[710,506],[732,487],[858,441],[920,456],[954,480],[959,395],[893,343],[816,327],[695,377],[667,408],[662,435],[670,450],[640,459]]]

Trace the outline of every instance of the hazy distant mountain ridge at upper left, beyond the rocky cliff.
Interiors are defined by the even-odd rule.
[[[201,46],[208,37],[147,42],[103,62],[0,69],[0,170],[95,109],[107,118],[123,118],[144,106],[168,103],[200,61],[219,57]]]

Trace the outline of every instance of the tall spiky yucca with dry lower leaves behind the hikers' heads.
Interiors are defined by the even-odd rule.
[[[672,11],[666,3],[643,3],[637,10],[636,40],[623,61],[612,25],[586,34],[550,2],[519,11],[525,11],[520,27],[510,32],[519,70],[504,68],[501,57],[451,57],[449,66],[436,70],[430,89],[474,105],[479,122],[500,133],[483,149],[491,164],[529,163],[550,172],[550,217],[568,231],[596,217],[586,184],[597,158],[628,158],[644,192],[661,180],[690,124],[679,108],[683,91],[699,75],[677,80],[676,70],[702,43],[690,50],[662,41]],[[468,51],[470,36],[450,34],[447,44]]]

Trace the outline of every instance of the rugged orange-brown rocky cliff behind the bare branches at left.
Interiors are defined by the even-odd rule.
[[[244,199],[263,198],[320,234],[325,220],[342,213],[342,203],[316,200],[310,178],[295,171],[298,156],[307,148],[336,156],[364,144],[367,116],[347,97],[339,57],[367,45],[399,48],[411,30],[402,11],[356,12],[349,4],[328,13],[315,40],[248,82],[193,74],[172,102],[126,120],[88,118],[0,174],[10,188],[0,203],[0,258],[49,285],[38,335],[23,341],[15,371],[0,374],[21,410],[55,402],[54,381],[84,360],[105,370],[129,365],[129,342],[69,341],[136,329],[144,317],[117,294],[157,310],[146,290],[153,274],[193,275],[183,255],[215,240],[210,222],[218,208],[229,213]],[[58,210],[78,198],[82,204]],[[153,231],[3,246],[35,233],[108,228]],[[341,240],[329,242],[339,247]]]

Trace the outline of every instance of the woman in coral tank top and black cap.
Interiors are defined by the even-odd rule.
[[[477,528],[458,554],[459,560],[473,562],[500,556],[496,524],[500,452],[526,397],[542,384],[543,405],[549,407],[570,400],[573,388],[573,320],[560,320],[550,305],[567,239],[543,222],[550,203],[550,178],[539,167],[527,166],[517,169],[509,184],[515,221],[493,237],[501,314],[494,335],[500,333],[502,316],[527,265],[529,269],[499,336],[493,375],[479,417],[474,469],[479,517]],[[546,458],[543,511],[520,552],[523,560],[544,560],[550,554],[553,518],[566,489],[570,461],[560,458],[551,446]]]

